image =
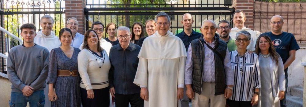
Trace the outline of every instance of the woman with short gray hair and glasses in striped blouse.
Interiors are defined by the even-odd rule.
[[[236,34],[237,50],[230,52],[233,69],[233,94],[228,100],[230,107],[252,107],[258,102],[260,88],[260,70],[258,56],[249,54],[251,34],[240,31]]]

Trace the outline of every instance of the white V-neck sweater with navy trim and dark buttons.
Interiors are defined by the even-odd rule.
[[[77,57],[79,73],[81,76],[80,87],[86,90],[102,89],[109,86],[108,71],[110,70],[110,59],[106,51],[101,56],[94,54],[91,50],[83,49]]]

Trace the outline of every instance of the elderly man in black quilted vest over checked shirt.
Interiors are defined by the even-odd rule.
[[[187,51],[186,95],[193,107],[225,107],[234,84],[227,44],[217,36],[213,20],[203,21],[200,30],[203,37],[193,40]]]

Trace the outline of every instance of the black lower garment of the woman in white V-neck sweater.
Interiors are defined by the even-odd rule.
[[[94,98],[87,98],[87,90],[81,88],[83,107],[109,107],[110,106],[110,88],[94,89]]]

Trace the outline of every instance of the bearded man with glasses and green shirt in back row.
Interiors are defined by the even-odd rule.
[[[234,51],[237,49],[235,44],[235,39],[231,38],[230,35],[230,22],[226,20],[221,20],[218,24],[218,34],[220,35],[220,39],[227,43],[227,48],[230,51]]]

